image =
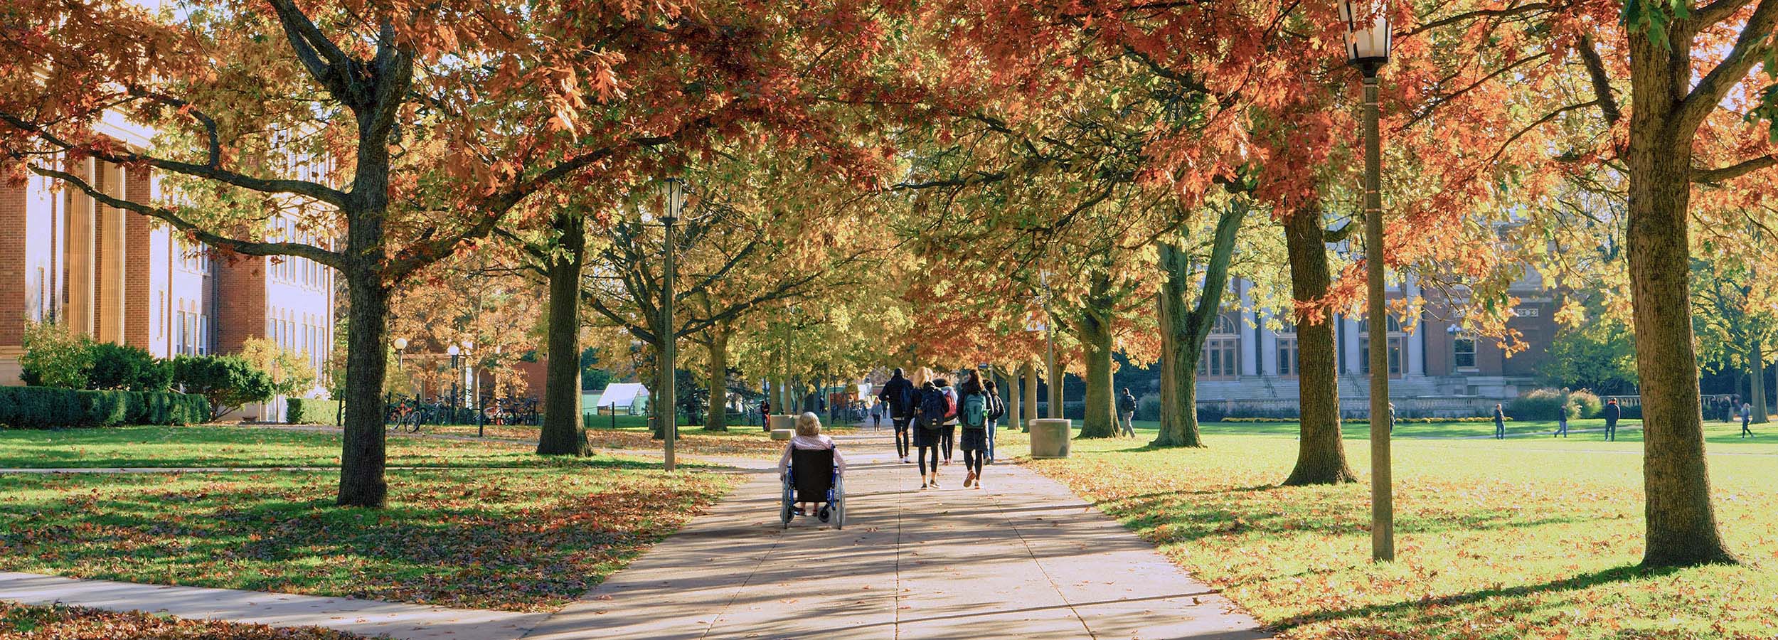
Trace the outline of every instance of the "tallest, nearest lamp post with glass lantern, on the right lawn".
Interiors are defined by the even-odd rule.
[[[1382,2],[1341,0],[1346,62],[1364,75],[1364,265],[1366,325],[1371,329],[1371,560],[1396,558],[1396,507],[1389,460],[1389,309],[1383,306],[1383,151],[1376,126],[1376,73],[1389,62],[1389,16]]]

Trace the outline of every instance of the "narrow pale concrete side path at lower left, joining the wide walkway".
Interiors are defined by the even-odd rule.
[[[509,640],[549,613],[453,610],[350,597],[265,594],[231,588],[133,585],[25,572],[0,572],[0,601],[78,604],[272,626],[320,626],[366,636]]]

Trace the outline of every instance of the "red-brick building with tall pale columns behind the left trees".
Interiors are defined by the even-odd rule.
[[[124,123],[103,133],[149,142],[149,132]],[[123,199],[160,196],[148,169],[91,158],[68,169]],[[290,220],[274,220],[272,233],[300,238]],[[300,258],[212,256],[167,224],[48,178],[0,183],[0,384],[21,384],[25,324],[50,320],[160,357],[228,354],[270,338],[320,370],[332,343],[332,270]]]

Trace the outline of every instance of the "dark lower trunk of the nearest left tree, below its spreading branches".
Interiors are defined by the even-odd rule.
[[[389,496],[384,480],[382,379],[388,372],[389,288],[382,274],[356,267],[347,276],[350,320],[345,359],[345,434],[340,448],[340,507],[380,508]]]

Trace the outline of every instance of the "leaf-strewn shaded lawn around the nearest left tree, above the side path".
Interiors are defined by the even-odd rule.
[[[332,505],[331,471],[5,475],[0,571],[542,612],[738,482],[610,459],[389,471],[364,510]]]

